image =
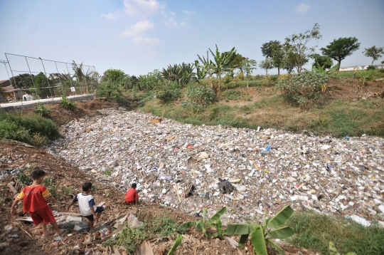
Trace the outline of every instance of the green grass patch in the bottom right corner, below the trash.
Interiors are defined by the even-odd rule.
[[[384,254],[384,229],[363,227],[352,220],[314,213],[295,213],[287,222],[296,233],[288,241],[296,246],[329,254],[333,241],[340,254]]]

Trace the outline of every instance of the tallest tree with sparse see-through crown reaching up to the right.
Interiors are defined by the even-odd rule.
[[[314,48],[307,46],[312,39],[319,40],[323,36],[320,34],[319,24],[314,24],[311,30],[307,30],[304,33],[292,34],[285,38],[284,51],[289,55],[291,61],[294,61],[297,73],[300,73],[303,66],[309,60],[309,56],[314,53]]]

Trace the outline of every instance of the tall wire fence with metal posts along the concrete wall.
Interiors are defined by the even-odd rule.
[[[79,97],[95,93],[98,75],[95,66],[65,63],[5,53],[0,61],[0,80],[9,80],[13,87],[6,90],[8,102],[41,100],[46,98]]]

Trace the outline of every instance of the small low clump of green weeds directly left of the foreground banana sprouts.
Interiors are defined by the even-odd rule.
[[[185,234],[186,229],[179,226],[179,224],[169,217],[155,217],[154,221],[149,228],[149,233],[158,237],[171,236],[175,233]]]

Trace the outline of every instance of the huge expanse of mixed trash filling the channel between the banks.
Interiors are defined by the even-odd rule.
[[[122,192],[226,221],[287,204],[356,221],[384,220],[383,138],[343,139],[196,126],[140,111],[100,110],[73,120],[47,150]],[[120,198],[122,199],[122,198]]]

